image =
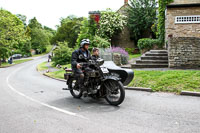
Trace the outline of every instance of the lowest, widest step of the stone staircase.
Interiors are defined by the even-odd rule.
[[[131,64],[131,68],[167,68],[168,64]]]

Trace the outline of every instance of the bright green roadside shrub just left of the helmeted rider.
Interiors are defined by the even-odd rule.
[[[57,64],[69,64],[71,62],[72,52],[73,49],[68,47],[67,42],[58,42],[57,48],[53,51],[53,65],[56,66]]]

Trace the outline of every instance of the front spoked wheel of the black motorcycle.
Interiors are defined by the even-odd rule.
[[[121,81],[107,80],[104,83],[106,87],[106,101],[111,105],[119,105],[124,101],[125,90]]]

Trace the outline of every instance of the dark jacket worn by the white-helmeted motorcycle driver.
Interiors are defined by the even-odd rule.
[[[83,54],[81,49],[77,49],[72,53],[71,65],[72,65],[72,70],[73,71],[76,71],[77,63],[87,62],[87,60],[91,59],[90,52],[87,50],[86,53],[87,53],[87,57],[86,58],[82,58],[82,59],[80,57],[81,56],[85,57],[85,56],[84,56],[84,54]]]

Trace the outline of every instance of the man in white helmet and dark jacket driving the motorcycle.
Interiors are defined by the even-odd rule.
[[[89,45],[90,40],[83,39],[80,43],[80,48],[72,53],[71,60],[72,70],[78,79],[79,88],[82,90],[83,96],[87,95],[87,90],[83,87],[84,73],[82,72],[80,63],[87,62],[89,59],[91,59],[90,52],[88,51]]]

